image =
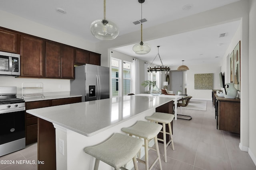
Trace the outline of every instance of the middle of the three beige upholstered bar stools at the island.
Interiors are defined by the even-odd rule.
[[[125,133],[128,133],[130,136],[134,135],[139,138],[144,139],[144,147],[145,147],[145,161],[139,158],[137,160],[139,162],[142,162],[146,165],[146,170],[151,170],[153,166],[156,164],[156,162],[159,162],[160,170],[162,170],[162,164],[161,164],[161,158],[160,158],[160,152],[157,142],[157,135],[162,129],[162,125],[156,124],[156,123],[150,123],[147,121],[137,121],[135,125],[131,127],[124,127],[122,128],[122,131]],[[148,143],[150,139],[154,139],[156,148],[152,148],[148,146]],[[148,149],[156,150],[158,157],[154,160],[152,165],[149,167],[148,165]]]

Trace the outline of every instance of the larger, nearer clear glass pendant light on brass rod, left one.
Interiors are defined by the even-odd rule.
[[[90,30],[94,37],[101,40],[112,40],[118,36],[119,29],[117,25],[110,20],[106,20],[106,0],[104,0],[104,19],[93,21]]]

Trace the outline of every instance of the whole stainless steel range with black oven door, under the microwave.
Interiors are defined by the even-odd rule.
[[[17,87],[0,87],[0,156],[25,148],[25,101]]]

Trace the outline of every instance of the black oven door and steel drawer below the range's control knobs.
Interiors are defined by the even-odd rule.
[[[0,156],[25,148],[25,111],[0,113]]]

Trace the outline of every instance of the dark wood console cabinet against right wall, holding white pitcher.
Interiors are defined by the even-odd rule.
[[[217,129],[240,134],[240,99],[214,95],[216,98]]]

